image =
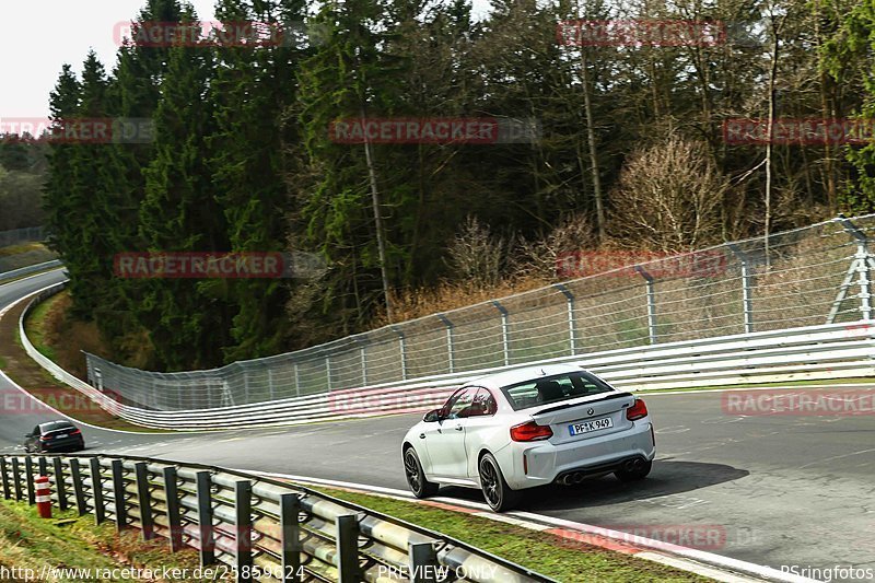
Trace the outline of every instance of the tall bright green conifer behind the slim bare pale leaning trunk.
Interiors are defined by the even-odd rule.
[[[308,175],[315,179],[298,187],[299,221],[307,243],[318,246],[335,267],[323,308],[348,329],[368,320],[383,303],[381,268],[386,268],[389,287],[397,281],[397,266],[406,249],[394,241],[398,220],[387,209],[398,212],[412,194],[409,185],[387,177],[409,164],[393,164],[384,158],[385,149],[377,148],[372,149],[369,164],[363,145],[332,142],[329,127],[335,120],[400,113],[396,108],[402,94],[400,67],[385,51],[394,28],[386,7],[377,0],[326,3],[314,25],[325,34],[314,55],[301,66],[296,115]],[[375,222],[375,189],[382,199],[378,212],[386,223],[383,233]],[[381,260],[380,236],[386,240],[385,261]]]

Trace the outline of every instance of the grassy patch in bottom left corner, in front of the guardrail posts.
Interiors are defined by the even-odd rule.
[[[131,578],[85,578],[72,573],[60,576],[61,573],[57,572],[46,578],[38,575],[49,574],[43,571],[46,568],[98,569],[105,572],[103,570],[125,568],[155,571],[166,567],[187,570],[189,576],[185,581],[201,581],[191,576],[198,565],[197,551],[184,549],[171,555],[165,539],[143,541],[136,529],[116,533],[112,523],[95,525],[91,515],[80,517],[74,511],[59,512],[57,509],[51,520],[43,520],[38,517],[36,506],[0,500],[0,567],[5,568],[7,575],[14,573],[14,568],[19,575],[33,570],[31,572],[37,576],[28,578],[31,581],[130,581]],[[25,581],[25,578],[5,576],[0,580],[18,582]],[[162,579],[156,576],[151,581]]]

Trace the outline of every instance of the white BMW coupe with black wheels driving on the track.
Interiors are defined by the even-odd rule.
[[[407,432],[401,452],[418,498],[439,486],[479,488],[500,512],[536,486],[611,473],[640,480],[656,447],[643,400],[555,364],[470,381]]]

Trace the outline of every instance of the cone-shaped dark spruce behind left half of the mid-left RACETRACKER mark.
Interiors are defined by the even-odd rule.
[[[185,19],[194,21],[194,15]],[[150,252],[228,249],[215,202],[206,137],[214,127],[207,90],[213,55],[207,47],[174,47],[155,110],[154,159],[145,168],[140,236]],[[214,365],[229,341],[229,313],[196,279],[151,279],[138,317],[149,330],[158,364],[170,370]]]

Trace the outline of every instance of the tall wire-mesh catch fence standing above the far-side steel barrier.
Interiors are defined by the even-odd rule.
[[[443,374],[873,317],[875,215],[664,257],[332,342],[219,369],[159,373],[86,354],[89,381],[125,403],[212,409]],[[605,252],[602,255],[609,255]],[[585,252],[564,277],[597,271]],[[651,254],[649,257],[653,257]],[[610,259],[611,257],[607,257]],[[568,264],[563,263],[569,259]],[[635,257],[617,252],[616,261]],[[565,269],[568,268],[568,269]],[[575,271],[578,270],[578,271]]]

